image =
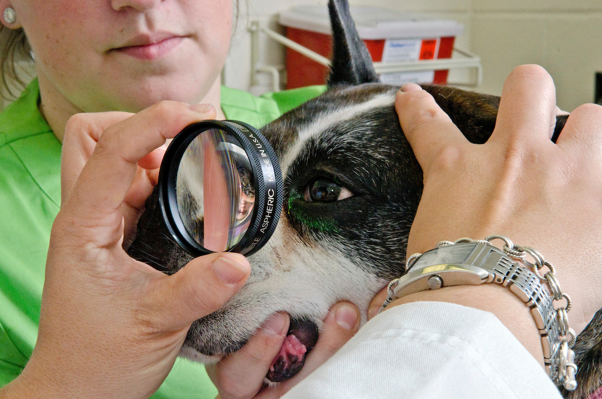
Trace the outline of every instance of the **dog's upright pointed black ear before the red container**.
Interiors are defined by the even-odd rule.
[[[378,82],[372,58],[355,29],[347,0],[329,0],[328,10],[332,25],[332,68],[328,86]]]

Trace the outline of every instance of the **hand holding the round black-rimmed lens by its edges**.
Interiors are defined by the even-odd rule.
[[[39,336],[7,397],[146,398],[172,368],[190,324],[219,309],[249,276],[240,254],[199,257],[167,276],[125,253],[124,227],[152,184],[137,164],[211,115],[161,102],[124,117],[82,115],[68,125],[64,203],[52,227]],[[84,144],[74,146],[76,136]]]

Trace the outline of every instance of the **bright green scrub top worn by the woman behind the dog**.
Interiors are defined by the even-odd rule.
[[[227,119],[262,127],[324,91],[261,97],[222,87]],[[36,344],[50,230],[60,199],[61,144],[38,110],[37,79],[0,113],[0,386],[19,375]],[[82,354],[83,356],[83,354]],[[214,398],[199,363],[176,360],[155,399]]]

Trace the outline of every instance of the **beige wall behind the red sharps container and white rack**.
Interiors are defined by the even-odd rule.
[[[278,28],[276,14],[302,4],[326,4],[326,0],[249,0],[249,15]],[[479,91],[499,95],[504,78],[515,66],[536,63],[554,78],[561,108],[571,111],[594,98],[594,72],[602,71],[600,0],[350,0],[350,4],[462,22],[465,33],[456,43],[482,58],[483,84]],[[244,68],[250,64],[243,65],[237,56],[241,54],[240,46],[248,45],[240,36],[242,31],[244,27],[239,29],[238,42],[232,48],[238,76],[229,80],[233,86],[244,88],[245,80],[248,84]],[[262,46],[264,54],[269,53],[264,57],[270,63],[282,63],[279,45],[262,42]]]

